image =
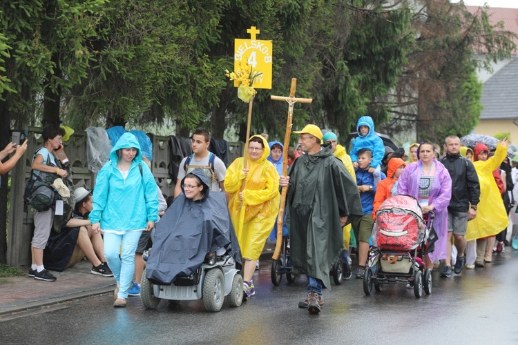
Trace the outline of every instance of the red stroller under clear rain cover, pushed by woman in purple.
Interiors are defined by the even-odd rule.
[[[437,239],[433,230],[430,234],[434,214],[428,215],[427,226],[421,206],[409,195],[395,195],[381,204],[363,277],[365,295],[370,295],[373,285],[380,292],[383,284],[410,284],[417,298],[423,289],[426,295],[432,293],[432,270],[425,270],[422,260],[428,253],[425,250],[431,251],[432,240]]]

